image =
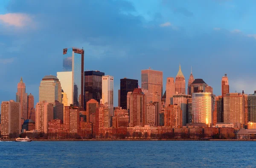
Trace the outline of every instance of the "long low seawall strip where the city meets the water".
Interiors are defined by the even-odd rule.
[[[31,139],[32,141],[256,141],[256,139]],[[2,142],[15,139],[0,139]]]

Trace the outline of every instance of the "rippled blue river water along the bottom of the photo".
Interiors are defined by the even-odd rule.
[[[0,167],[256,167],[256,142],[0,142]]]

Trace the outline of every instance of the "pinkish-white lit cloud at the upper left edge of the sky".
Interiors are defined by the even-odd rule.
[[[32,18],[23,13],[0,14],[0,21],[7,26],[24,27],[32,23]]]

